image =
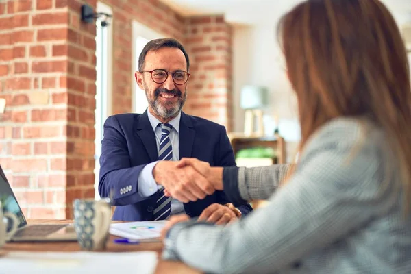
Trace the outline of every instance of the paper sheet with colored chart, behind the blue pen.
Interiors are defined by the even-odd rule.
[[[110,234],[132,240],[158,240],[168,221],[112,223]]]

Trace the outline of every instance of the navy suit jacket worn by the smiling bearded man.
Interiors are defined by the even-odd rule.
[[[146,164],[158,160],[147,110],[108,117],[101,145],[99,193],[112,197],[116,206],[113,219],[151,221],[158,195],[141,197],[138,193],[138,175]],[[184,112],[179,125],[179,157],[197,158],[211,166],[236,165],[225,127]],[[216,191],[202,200],[184,203],[184,210],[196,217],[212,203],[228,202],[223,191]],[[248,203],[234,205],[243,215],[252,210]]]

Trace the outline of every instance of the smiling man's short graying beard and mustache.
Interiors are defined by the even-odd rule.
[[[145,86],[145,90],[148,90],[147,86]],[[178,97],[178,101],[175,102],[166,102],[166,105],[163,105],[158,100],[158,97],[160,94],[168,94],[168,95],[175,95]],[[182,110],[184,103],[186,103],[187,99],[187,92],[184,92],[184,97],[182,97],[182,92],[179,91],[177,88],[173,90],[167,90],[166,88],[157,88],[154,91],[154,97],[149,96],[149,92],[146,91],[146,97],[147,101],[149,102],[149,105],[151,109],[154,111],[154,113],[157,116],[162,117],[162,119],[170,119],[175,116]],[[167,106],[171,106],[171,108],[166,108]]]

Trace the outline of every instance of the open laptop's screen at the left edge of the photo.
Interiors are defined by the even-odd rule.
[[[0,166],[0,201],[1,206],[3,207],[4,212],[11,212],[16,214],[18,220],[20,220],[20,224],[18,227],[23,227],[27,224],[27,221],[24,217],[23,212],[21,211],[20,206],[18,206],[18,202],[16,197],[14,196],[13,190],[8,183],[8,180],[5,178],[3,169]]]

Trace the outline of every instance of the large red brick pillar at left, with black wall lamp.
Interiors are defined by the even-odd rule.
[[[80,5],[0,3],[0,163],[29,218],[70,217],[93,195],[95,26]]]

